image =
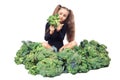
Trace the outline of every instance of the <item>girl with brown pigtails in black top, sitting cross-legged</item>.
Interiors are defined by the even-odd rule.
[[[59,15],[59,25],[57,28],[54,28],[54,26],[51,26],[49,23],[46,24],[44,38],[48,43],[43,42],[42,45],[55,52],[62,51],[64,48],[73,48],[77,43],[74,41],[75,23],[72,10],[58,5],[53,12],[53,15],[55,14]],[[64,45],[63,40],[65,34],[67,34],[68,44]]]

